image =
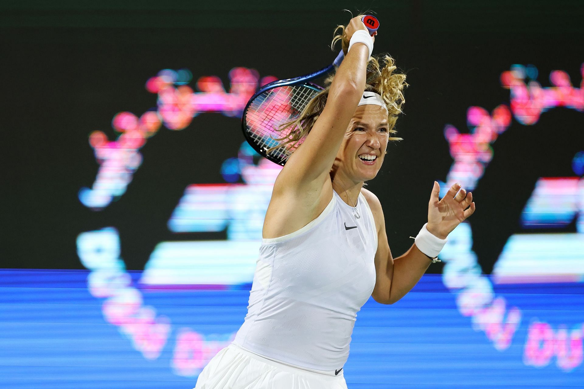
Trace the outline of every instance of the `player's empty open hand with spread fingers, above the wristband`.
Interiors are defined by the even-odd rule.
[[[475,203],[472,201],[472,192],[467,193],[458,183],[450,187],[442,200],[438,199],[439,193],[440,185],[434,181],[426,227],[436,237],[445,239],[458,224],[474,213]]]

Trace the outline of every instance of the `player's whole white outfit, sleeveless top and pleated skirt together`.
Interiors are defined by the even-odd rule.
[[[377,230],[333,190],[298,231],[262,239],[248,314],[234,342],[205,367],[196,389],[342,389],[357,311],[375,286]]]

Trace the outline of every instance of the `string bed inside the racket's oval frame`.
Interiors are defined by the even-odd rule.
[[[263,151],[261,154],[277,163],[286,161],[304,139],[286,144],[301,128],[281,126],[297,119],[318,92],[307,85],[277,86],[253,99],[244,113],[246,131],[248,138]],[[276,148],[268,153],[272,147]]]

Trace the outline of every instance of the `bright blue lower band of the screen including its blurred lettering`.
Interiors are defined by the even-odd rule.
[[[194,387],[242,324],[249,284],[158,289],[140,278],[115,268],[2,271],[0,387]],[[439,275],[425,275],[398,304],[368,301],[354,328],[347,385],[581,386],[582,284],[506,285],[497,294],[533,316],[505,350],[483,332],[495,333],[502,311],[461,315]]]

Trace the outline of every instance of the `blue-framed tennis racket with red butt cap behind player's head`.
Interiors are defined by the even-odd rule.
[[[379,28],[379,20],[375,16],[366,15],[361,20],[370,34]],[[290,154],[304,139],[294,145],[282,145],[292,128],[286,128],[284,131],[278,131],[278,128],[281,124],[296,119],[308,102],[324,89],[312,84],[310,80],[328,74],[335,66],[340,65],[343,58],[345,54],[340,50],[331,65],[300,77],[270,82],[249,99],[241,121],[245,140],[255,151],[276,164],[282,166],[286,164]],[[280,138],[284,139],[279,140]],[[267,152],[272,147],[276,148]]]

